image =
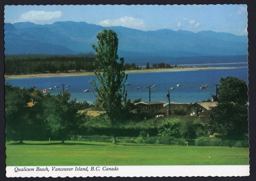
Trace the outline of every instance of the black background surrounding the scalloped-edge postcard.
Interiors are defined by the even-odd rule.
[[[247,4],[248,11],[248,64],[249,64],[249,157],[250,176],[248,177],[86,177],[86,178],[6,178],[5,177],[5,133],[4,133],[4,5],[54,5],[54,4]],[[254,0],[1,0],[0,2],[0,180],[256,180],[256,1]],[[235,171],[235,170],[234,170]]]

